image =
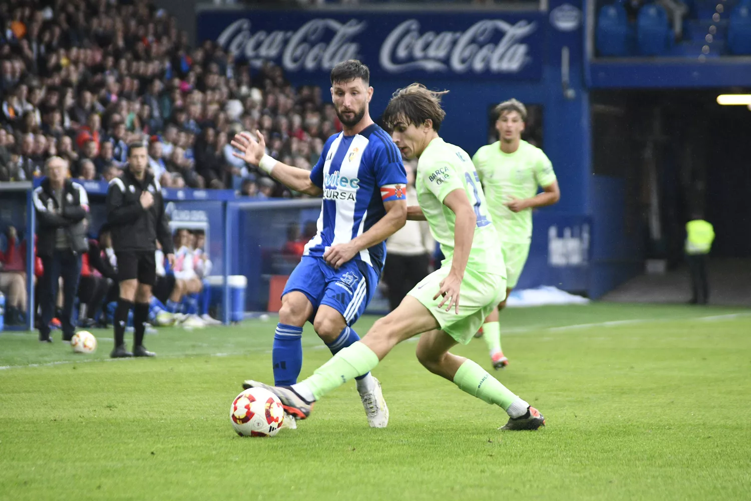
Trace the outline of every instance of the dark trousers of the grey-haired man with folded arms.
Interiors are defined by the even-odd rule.
[[[81,255],[74,254],[71,250],[55,250],[53,255],[40,256],[44,265],[44,275],[39,282],[39,305],[42,309],[39,335],[50,335],[50,321],[55,312],[55,300],[57,297],[58,279],[62,276],[62,337],[70,340],[73,337],[75,327],[73,325],[73,301],[78,291],[78,279],[81,275]]]

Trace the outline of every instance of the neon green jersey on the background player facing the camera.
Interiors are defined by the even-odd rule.
[[[532,240],[532,210],[514,213],[505,202],[537,195],[538,186],[550,186],[556,180],[553,164],[537,146],[519,142],[513,153],[501,151],[500,141],[482,146],[472,162],[477,168],[502,242],[529,243]]]

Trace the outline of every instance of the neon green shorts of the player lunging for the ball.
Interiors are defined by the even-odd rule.
[[[459,290],[459,312],[454,307],[447,312],[445,304],[442,308],[438,307],[442,297],[434,300],[433,296],[440,290],[439,284],[449,271],[451,263],[422,279],[409,291],[409,295],[430,310],[445,333],[457,340],[457,343],[466,345],[480,330],[487,315],[505,299],[506,279],[493,273],[480,273],[467,268]]]

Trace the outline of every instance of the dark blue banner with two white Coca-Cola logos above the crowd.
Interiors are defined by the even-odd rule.
[[[375,78],[538,80],[544,21],[537,12],[202,11],[198,39],[288,74],[360,59]]]

